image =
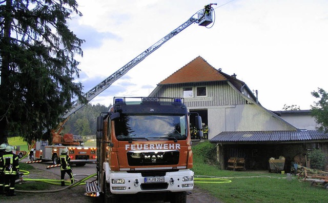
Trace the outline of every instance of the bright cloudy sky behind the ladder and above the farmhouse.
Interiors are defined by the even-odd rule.
[[[311,92],[328,91],[328,1],[326,0],[77,0],[82,17],[70,29],[82,45],[84,92],[216,3],[215,22],[190,25],[90,101],[109,106],[114,96],[148,96],[163,79],[201,56],[215,69],[236,74],[258,90],[269,110],[284,105],[311,109]]]

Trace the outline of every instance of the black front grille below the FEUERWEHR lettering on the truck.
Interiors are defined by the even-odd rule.
[[[127,152],[129,166],[177,165],[179,155],[179,150]]]

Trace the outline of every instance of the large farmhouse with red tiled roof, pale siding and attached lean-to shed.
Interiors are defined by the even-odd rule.
[[[235,74],[215,69],[200,56],[162,80],[149,96],[185,98],[189,111],[197,112],[208,126],[221,169],[227,168],[230,157],[242,157],[246,169],[267,170],[271,157],[283,156],[288,172],[294,159],[306,164],[303,154],[308,150],[328,151],[328,135],[300,130],[265,109]]]

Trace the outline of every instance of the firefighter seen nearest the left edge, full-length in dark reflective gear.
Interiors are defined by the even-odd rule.
[[[2,159],[4,161],[6,195],[15,196],[15,180],[19,172],[19,163],[18,156],[12,153],[12,147],[10,145],[6,147]]]

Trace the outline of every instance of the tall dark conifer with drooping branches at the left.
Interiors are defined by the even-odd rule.
[[[72,98],[86,104],[74,82],[74,55],[83,56],[84,40],[67,22],[81,16],[77,6],[75,0],[0,1],[0,143],[11,135],[50,139]]]

